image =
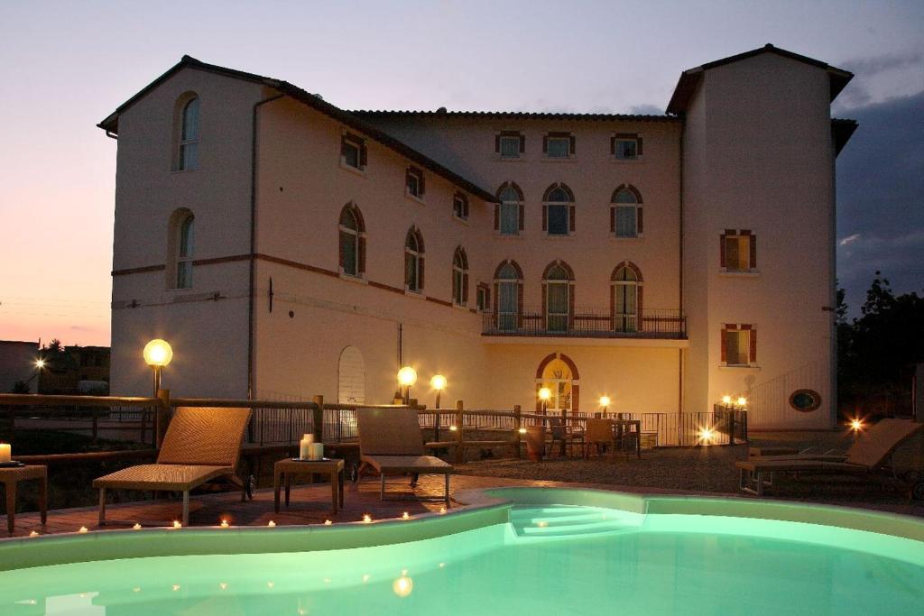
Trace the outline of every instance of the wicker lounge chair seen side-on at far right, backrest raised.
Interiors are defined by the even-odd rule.
[[[924,424],[908,419],[882,419],[874,429],[860,437],[844,456],[813,457],[809,453],[753,457],[736,462],[740,473],[738,488],[763,496],[764,488],[772,485],[774,473],[876,477],[885,470],[895,449],[924,429]]]

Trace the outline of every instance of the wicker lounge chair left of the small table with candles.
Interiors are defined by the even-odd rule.
[[[106,489],[183,492],[183,525],[189,523],[189,490],[203,483],[224,478],[241,488],[243,500],[247,486],[236,472],[249,418],[249,408],[177,408],[156,464],[93,480],[100,490],[100,525],[105,524]]]

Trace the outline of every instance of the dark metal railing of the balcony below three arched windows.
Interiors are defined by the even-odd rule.
[[[574,308],[570,314],[554,315],[527,307],[518,313],[485,312],[482,318],[481,333],[486,336],[687,338],[687,317],[672,308],[645,308],[636,314]]]

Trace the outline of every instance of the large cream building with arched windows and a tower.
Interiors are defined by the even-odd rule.
[[[852,75],[770,45],[665,115],[345,111],[185,56],[118,139],[112,390],[834,417],[834,159]]]

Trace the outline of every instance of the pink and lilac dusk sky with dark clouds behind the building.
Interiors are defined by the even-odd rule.
[[[156,6],[155,6],[156,5]],[[924,289],[924,2],[0,0],[0,339],[109,344],[116,141],[183,54],[346,109],[663,113],[680,72],[766,42],[856,73],[833,114],[838,277]]]

